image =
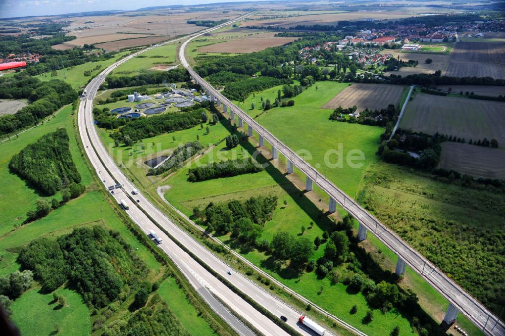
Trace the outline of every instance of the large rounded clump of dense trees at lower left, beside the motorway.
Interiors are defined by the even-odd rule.
[[[119,233],[101,226],[38,238],[21,249],[17,261],[33,271],[45,291],[68,282],[84,302],[98,308],[116,300],[125,285],[137,286],[147,273]]]

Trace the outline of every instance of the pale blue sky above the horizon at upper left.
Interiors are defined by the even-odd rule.
[[[245,0],[0,0],[0,18],[75,12],[134,10],[151,6],[195,5]]]

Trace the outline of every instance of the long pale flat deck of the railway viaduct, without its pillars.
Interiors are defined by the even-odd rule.
[[[373,232],[382,243],[384,243],[399,258],[405,261],[410,267],[412,267],[412,269],[420,274],[428,283],[430,283],[430,285],[434,287],[435,290],[442,294],[442,296],[445,297],[451,305],[455,306],[477,327],[483,330],[485,334],[493,336],[505,335],[505,324],[503,321],[499,320],[498,317],[489,311],[483,304],[470,294],[466,293],[455,281],[450,279],[426,258],[424,258],[421,253],[410,247],[399,236],[383,225],[377,218],[371,215],[350,197],[345,195],[343,191],[341,191],[325,176],[321,175],[321,173],[319,173],[309,163],[305,162],[305,160],[299,157],[293,150],[284,145],[284,143],[277,139],[267,129],[258,124],[254,119],[247,115],[247,113],[234,105],[211,84],[201,78],[190,67],[184,54],[187,44],[192,39],[201,35],[203,35],[203,33],[196,34],[187,39],[179,50],[179,59],[195,82],[204,89],[208,90],[221,102],[221,104],[224,104],[229,110],[233,111],[235,115],[240,117],[247,125],[251,126],[252,129],[267,140],[282,155],[284,155],[286,159],[291,161],[294,166],[311,178],[312,181],[323,189],[331,199],[335,200],[349,214],[356,218],[361,225],[367,228],[367,230]],[[412,92],[412,87],[410,92]]]

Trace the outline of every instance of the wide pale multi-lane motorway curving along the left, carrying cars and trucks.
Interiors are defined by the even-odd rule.
[[[224,25],[231,24],[237,20],[242,19],[239,17],[235,20],[229,21],[223,25],[213,27],[205,32],[219,29]],[[181,37],[175,40],[168,41],[166,43],[174,42],[186,37]],[[165,44],[165,43],[163,43]],[[149,48],[148,48],[149,49]],[[148,50],[145,49],[145,50]],[[143,51],[145,51],[143,50]],[[133,183],[122,173],[118,168],[114,160],[109,156],[106,148],[100,141],[95,125],[93,124],[92,115],[92,103],[96,92],[106,78],[106,76],[111,73],[116,67],[126,62],[142,53],[143,51],[134,53],[105,69],[97,77],[93,78],[91,82],[86,86],[86,95],[79,105],[78,111],[78,126],[79,134],[83,143],[83,147],[91,165],[95,169],[98,177],[102,180],[104,187],[114,185],[115,183],[121,183],[122,189],[115,189],[115,193],[111,194],[116,202],[121,203],[124,199],[129,209],[126,213],[130,218],[147,234],[149,230],[155,230],[160,238],[163,239],[163,243],[158,245],[159,248],[163,250],[179,267],[182,273],[189,280],[191,285],[199,292],[205,293],[206,291],[212,292],[214,295],[219,297],[224,303],[226,303],[236,314],[247,319],[249,323],[254,325],[260,332],[266,336],[276,336],[287,334],[282,328],[277,326],[273,321],[268,319],[265,315],[261,314],[255,308],[250,306],[238,295],[234,294],[226,285],[214,277],[210,272],[208,272],[203,266],[197,263],[191,258],[184,250],[182,250],[177,244],[175,244],[168,235],[162,232],[157,224],[162,226],[165,230],[170,232],[170,234],[185,248],[191,251],[196,257],[203,261],[206,265],[212,268],[214,271],[218,272],[227,279],[240,291],[249,296],[252,300],[256,301],[258,304],[269,310],[276,316],[284,315],[288,318],[286,322],[295,330],[297,330],[302,335],[312,335],[313,333],[306,330],[305,327],[298,325],[298,317],[301,315],[300,312],[296,311],[292,307],[288,306],[284,302],[280,301],[270,293],[266,292],[256,283],[252,282],[245,276],[237,272],[232,272],[231,275],[227,274],[231,268],[225,264],[220,258],[215,256],[212,252],[207,250],[205,247],[201,246],[197,241],[195,241],[191,236],[189,236],[185,231],[174,224],[164,213],[158,210],[153,204],[151,204],[143,195],[139,193],[134,196],[135,200],[139,203],[132,201],[130,199],[131,191],[135,188]],[[149,217],[145,215],[142,211],[144,210],[149,214]],[[156,223],[155,223],[156,222]],[[223,307],[218,306],[216,300],[212,301],[208,295],[203,296],[207,302],[211,305],[214,311],[226,315],[223,312]],[[228,315],[223,316],[225,321],[230,324],[238,334],[240,335],[250,335],[251,331],[245,328],[241,323],[238,323],[234,317]],[[358,332],[359,333],[359,332]],[[329,334],[329,333],[327,333]],[[359,333],[364,335],[363,333]]]

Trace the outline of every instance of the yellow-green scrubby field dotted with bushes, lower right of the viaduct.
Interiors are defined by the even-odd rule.
[[[499,314],[505,276],[503,195],[377,164],[361,203],[449,277]],[[478,271],[477,271],[477,268]],[[501,302],[501,305],[500,305]]]

